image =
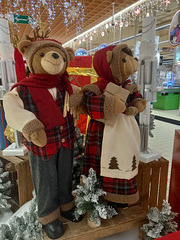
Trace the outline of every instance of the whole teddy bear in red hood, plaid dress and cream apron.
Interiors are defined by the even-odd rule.
[[[93,66],[100,80],[97,83],[86,85],[81,93],[72,94],[70,97],[71,106],[77,107],[83,104],[82,109],[91,117],[86,136],[82,173],[88,175],[89,169],[93,168],[97,176],[102,176],[102,186],[107,193],[105,198],[110,202],[119,204],[133,204],[138,200],[135,175],[137,175],[138,170],[140,134],[133,115],[145,109],[146,101],[142,99],[137,86],[131,85],[130,80],[128,80],[128,77],[137,71],[137,65],[137,61],[133,58],[133,54],[126,44],[103,48],[95,53],[93,59]],[[109,83],[113,83],[112,85],[117,86],[117,88],[121,86],[123,89],[129,90],[127,100],[123,101],[119,94],[116,94],[116,91],[114,95],[106,94]],[[129,117],[127,118],[127,116]],[[111,121],[114,117],[115,121]],[[119,118],[123,118],[123,124],[125,123],[126,127],[120,125]],[[115,132],[110,126],[108,132],[114,135],[111,134],[109,139],[105,138],[109,141],[106,141],[105,144],[103,136],[105,136],[105,128],[108,126],[106,123],[109,120],[111,125],[114,124],[113,127],[116,125],[116,128],[121,129],[124,135],[119,133],[119,130]],[[129,139],[127,140],[128,134]],[[124,142],[123,139],[121,142],[118,139],[121,135]],[[111,149],[108,146],[111,146]],[[116,146],[118,156],[115,155],[114,146]],[[137,149],[136,154],[131,151],[133,147]],[[105,149],[106,151],[104,151]],[[125,151],[127,152],[127,162],[123,161]],[[109,157],[106,171],[102,169],[104,165],[101,158],[102,155],[105,155],[104,152]],[[130,152],[132,155],[128,155]],[[118,158],[120,158],[120,163]],[[107,173],[111,173],[111,177]]]

